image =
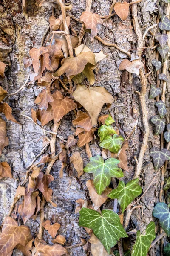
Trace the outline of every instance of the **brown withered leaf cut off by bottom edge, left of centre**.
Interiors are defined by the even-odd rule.
[[[38,251],[38,256],[61,256],[67,253],[67,250],[59,244],[48,245],[43,240],[37,237],[34,241],[35,247]]]

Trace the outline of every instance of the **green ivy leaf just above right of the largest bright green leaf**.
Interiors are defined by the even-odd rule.
[[[125,211],[125,208],[133,201],[133,199],[142,193],[142,188],[139,186],[138,182],[139,179],[130,180],[125,185],[124,181],[119,181],[117,188],[113,189],[108,194],[109,198],[118,199],[122,213]]]

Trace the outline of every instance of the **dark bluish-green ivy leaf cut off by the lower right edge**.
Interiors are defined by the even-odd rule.
[[[167,233],[167,236],[170,236],[170,212],[167,204],[156,204],[153,210],[153,216],[159,219],[161,227]]]

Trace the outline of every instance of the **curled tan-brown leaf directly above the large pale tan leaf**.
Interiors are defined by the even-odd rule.
[[[68,81],[73,76],[81,73],[87,63],[95,64],[95,55],[93,52],[81,52],[77,57],[65,58],[61,61],[62,66],[54,73],[54,76],[61,76],[66,73]]]

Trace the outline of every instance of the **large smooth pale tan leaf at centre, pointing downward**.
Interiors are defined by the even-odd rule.
[[[85,87],[78,85],[73,93],[74,99],[88,111],[93,126],[97,125],[97,119],[105,103],[113,103],[113,96],[103,87]]]

